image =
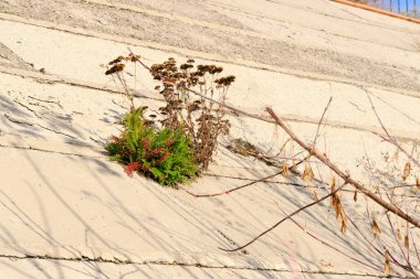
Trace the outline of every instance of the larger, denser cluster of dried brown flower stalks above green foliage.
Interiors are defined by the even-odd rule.
[[[203,171],[209,167],[218,146],[220,135],[229,132],[224,104],[234,76],[220,77],[222,67],[216,65],[193,65],[193,60],[179,67],[175,58],[150,67],[150,73],[161,86],[157,86],[167,103],[159,108],[164,115],[162,125],[170,129],[182,129],[191,138],[195,161]],[[218,98],[220,104],[190,94],[195,88],[202,96]]]

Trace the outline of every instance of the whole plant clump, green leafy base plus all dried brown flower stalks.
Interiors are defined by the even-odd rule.
[[[166,104],[149,116],[154,120],[145,119],[146,107],[135,109],[134,92],[125,79],[126,65],[132,63],[135,73],[140,64],[159,83],[155,89]],[[193,60],[178,66],[168,58],[148,67],[133,53],[118,56],[107,67],[105,74],[122,85],[129,101],[123,132],[106,147],[126,173],[132,176],[137,171],[162,185],[176,185],[208,169],[219,136],[229,132],[223,104],[235,77],[220,77],[222,67],[196,66]]]

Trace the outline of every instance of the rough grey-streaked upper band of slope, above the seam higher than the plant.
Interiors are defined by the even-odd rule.
[[[0,1],[2,12],[23,18],[237,61],[420,88],[418,26],[388,30],[375,17],[360,20],[365,11],[355,15],[346,12],[346,7],[330,4],[332,18],[329,14],[319,18],[316,10],[323,7],[322,1],[303,7],[287,1],[261,1],[261,6],[255,6],[253,1]],[[287,14],[294,14],[292,22]],[[326,24],[328,20],[354,26],[338,29]],[[386,34],[379,35],[382,32]],[[378,52],[378,47],[385,53]]]

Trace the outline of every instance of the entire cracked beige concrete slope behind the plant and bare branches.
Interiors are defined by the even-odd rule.
[[[318,147],[343,170],[368,183],[382,171],[399,175],[385,159],[395,154],[395,147],[372,133],[384,131],[368,94],[390,133],[418,152],[418,25],[304,0],[259,1],[258,6],[252,1],[46,4],[3,0],[0,7],[0,265],[4,277],[384,276],[384,258],[368,243],[381,244],[369,224],[361,222],[366,207],[353,201],[350,187],[345,189],[343,201],[368,242],[353,226],[342,235],[326,201],[296,216],[305,230],[287,222],[244,251],[220,250],[250,240],[284,216],[282,211],[290,213],[312,202],[314,189],[322,195],[328,186],[321,183],[313,189],[298,176],[276,176],[218,198],[193,198],[138,175],[126,176],[103,149],[108,137],[118,132],[116,121],[126,104],[101,64],[126,53],[127,45],[148,64],[168,56],[217,62],[237,76],[229,104],[260,116],[266,116],[264,108],[270,105],[307,142],[333,97]],[[150,90],[153,79],[146,72],[139,75],[136,103],[159,106],[159,96]],[[229,118],[231,135],[221,139],[207,175],[189,186],[193,192],[214,193],[277,171],[229,151],[227,144],[232,138],[244,138],[267,150],[282,146],[284,135],[272,124],[234,114]],[[376,173],[370,172],[370,161]],[[400,168],[405,158],[396,161]],[[319,174],[329,179],[330,172],[318,167]],[[382,182],[392,186],[392,179]],[[418,192],[393,194],[419,215]],[[378,216],[381,212],[370,203],[369,210]],[[396,221],[396,226],[405,225],[400,223]],[[418,229],[413,237],[419,243]],[[390,232],[382,233],[381,242],[399,253]],[[406,275],[396,266],[391,271]]]

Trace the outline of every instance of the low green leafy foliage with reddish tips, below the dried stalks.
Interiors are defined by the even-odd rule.
[[[198,172],[190,139],[182,130],[155,130],[143,118],[143,109],[129,111],[124,130],[106,146],[113,160],[125,164],[125,172],[140,172],[161,185],[187,182]]]

